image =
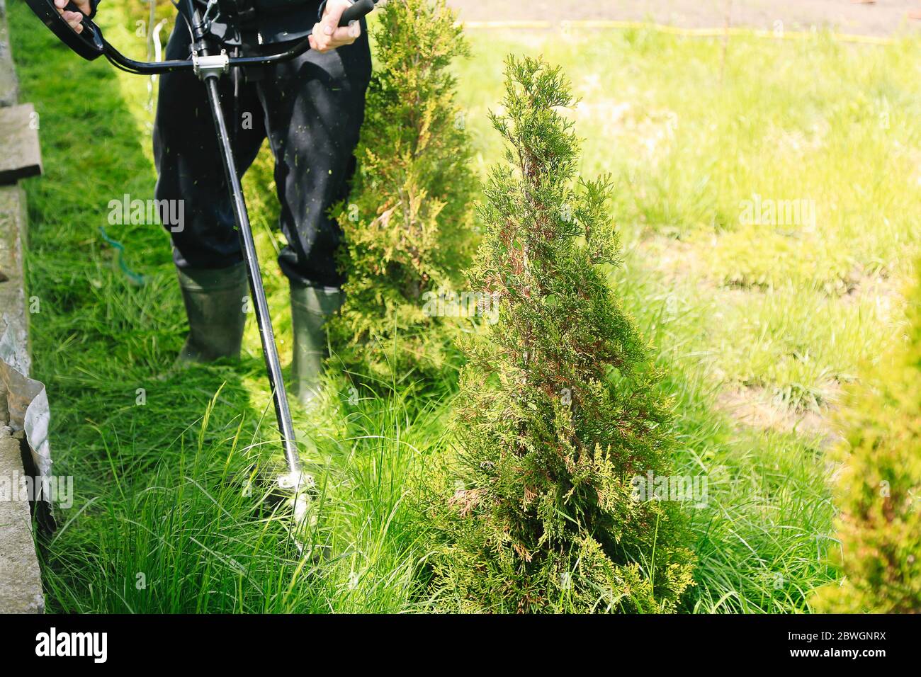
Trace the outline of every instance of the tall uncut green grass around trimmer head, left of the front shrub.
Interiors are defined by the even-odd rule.
[[[110,486],[87,486],[42,546],[57,611],[76,613],[400,613],[424,608],[424,559],[407,530],[406,486],[431,427],[394,399],[359,403],[349,432],[315,462],[317,526],[295,530],[258,478],[280,471],[245,421],[212,430],[220,396],[196,436],[159,449],[144,471],[111,439]],[[212,434],[215,433],[215,434]],[[109,436],[107,436],[109,437]],[[114,436],[111,436],[114,437]],[[195,438],[197,437],[197,439]],[[107,442],[108,446],[109,442]],[[258,461],[262,456],[263,461]],[[126,458],[127,457],[127,458]],[[301,549],[298,543],[302,543]]]

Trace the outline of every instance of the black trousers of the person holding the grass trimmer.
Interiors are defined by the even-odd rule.
[[[189,54],[189,31],[179,20],[165,58]],[[269,139],[280,226],[288,242],[279,263],[302,284],[341,286],[344,281],[334,259],[342,230],[328,211],[348,194],[370,75],[362,22],[362,36],[352,45],[325,54],[311,50],[284,64],[220,80],[240,176],[263,139]],[[204,85],[192,73],[160,76],[154,158],[157,200],[183,201],[183,228],[169,228],[176,265],[213,269],[242,261],[215,125]]]

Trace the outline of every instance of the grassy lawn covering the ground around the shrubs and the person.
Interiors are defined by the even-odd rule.
[[[106,222],[111,199],[152,197],[146,79],[79,60],[11,5],[46,169],[27,185],[35,371],[52,401],[55,473],[74,475],[77,492],[41,546],[50,607],[425,610],[411,487],[450,443],[453,393],[355,398],[332,375],[341,398],[296,422],[321,484],[311,541],[322,556],[301,556],[284,520],[248,496],[248,478],[277,459],[254,322],[239,367],[170,374],[184,317],[169,240]],[[100,18],[110,41],[143,56],[143,6],[107,3]],[[824,456],[834,403],[901,335],[918,251],[918,43],[752,36],[724,50],[654,29],[470,38],[457,70],[479,169],[499,150],[485,113],[503,57],[542,53],[582,98],[583,169],[617,181],[626,251],[612,284],[670,375],[683,472],[709,481],[705,505],[687,506],[699,563],[686,610],[808,611],[810,589],[836,576]],[[271,181],[263,155],[247,191],[285,337]],[[815,218],[752,223],[744,201],[756,200],[798,201]],[[119,269],[100,226],[145,286]]]

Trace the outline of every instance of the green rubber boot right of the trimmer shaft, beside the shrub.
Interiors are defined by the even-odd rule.
[[[344,301],[335,286],[306,286],[291,283],[291,327],[294,357],[291,360],[291,391],[297,402],[309,407],[321,394],[323,358],[327,355],[323,325]]]

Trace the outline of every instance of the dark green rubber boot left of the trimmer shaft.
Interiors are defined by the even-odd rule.
[[[220,357],[239,358],[246,324],[244,298],[249,293],[246,265],[238,263],[216,270],[185,268],[179,286],[189,317],[189,336],[177,367],[213,362]]]

